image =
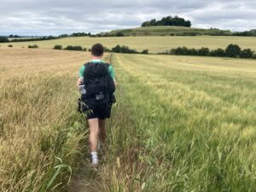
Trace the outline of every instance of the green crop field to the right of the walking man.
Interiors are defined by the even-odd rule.
[[[108,191],[254,191],[254,61],[114,55],[113,64],[108,160],[120,166],[102,176]]]

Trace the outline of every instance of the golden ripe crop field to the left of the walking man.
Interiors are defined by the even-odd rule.
[[[0,191],[63,191],[86,125],[76,112],[84,52],[0,48]]]

